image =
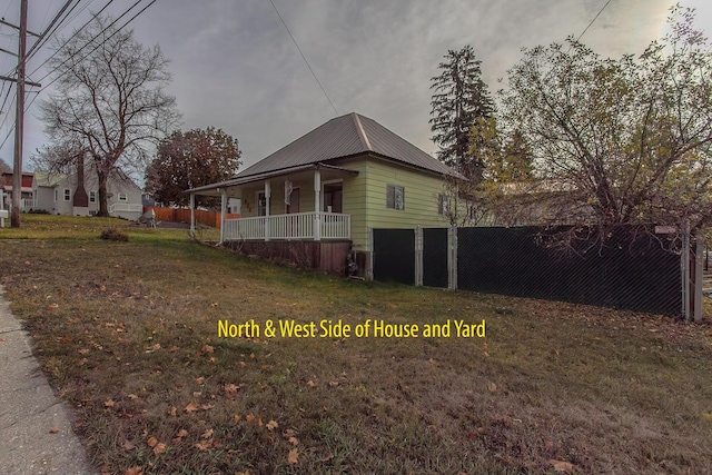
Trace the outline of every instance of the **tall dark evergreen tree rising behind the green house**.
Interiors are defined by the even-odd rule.
[[[474,145],[469,131],[477,118],[492,116],[494,102],[482,80],[482,61],[469,44],[459,51],[448,50],[444,58],[438,66],[441,75],[431,79],[435,91],[429,120],[433,141],[439,146],[441,161],[477,182],[484,164],[469,152]]]

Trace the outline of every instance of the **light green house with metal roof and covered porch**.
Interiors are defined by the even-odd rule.
[[[187,192],[222,196],[225,204],[240,198],[241,218],[226,220],[224,241],[347,241],[364,263],[373,250],[370,228],[447,226],[446,176],[457,174],[353,112],[230,180]]]

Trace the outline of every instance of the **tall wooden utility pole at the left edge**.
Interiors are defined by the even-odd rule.
[[[20,227],[22,204],[22,139],[24,128],[24,53],[27,50],[27,0],[20,0],[20,46],[18,48],[18,99],[14,117],[14,160],[12,164],[12,215],[10,226]]]

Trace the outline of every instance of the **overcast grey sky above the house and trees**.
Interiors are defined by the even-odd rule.
[[[29,2],[29,28],[40,32],[62,0]],[[69,36],[88,6],[61,34]],[[115,1],[116,17],[134,0]],[[145,0],[142,4],[147,4]],[[448,49],[472,44],[490,90],[506,87],[506,71],[521,48],[577,37],[606,0],[274,0],[338,115],[359,112],[434,154],[428,125],[431,78]],[[582,41],[605,57],[640,53],[665,32],[671,0],[611,0]],[[712,2],[684,0],[698,9],[696,26],[712,33]],[[0,0],[17,23],[19,0]],[[126,17],[130,18],[130,17]],[[314,80],[269,0],[158,0],[131,26],[145,44],[160,44],[171,60],[169,92],[177,98],[182,129],[215,126],[239,140],[244,167],[326,122],[336,112]],[[30,42],[31,44],[31,42]],[[17,50],[17,34],[0,28],[0,48]],[[14,58],[0,57],[0,73]],[[42,52],[28,72],[41,65]],[[38,80],[40,70],[30,77]],[[500,83],[498,79],[504,78]],[[7,87],[7,86],[6,86]],[[4,97],[3,89],[2,97]],[[47,91],[41,92],[40,99]],[[10,97],[12,97],[14,92]],[[37,95],[29,95],[31,99]],[[1,98],[0,98],[1,99]],[[10,132],[14,106],[0,128]],[[24,164],[46,142],[37,102],[26,122]],[[0,148],[12,164],[13,135]]]

